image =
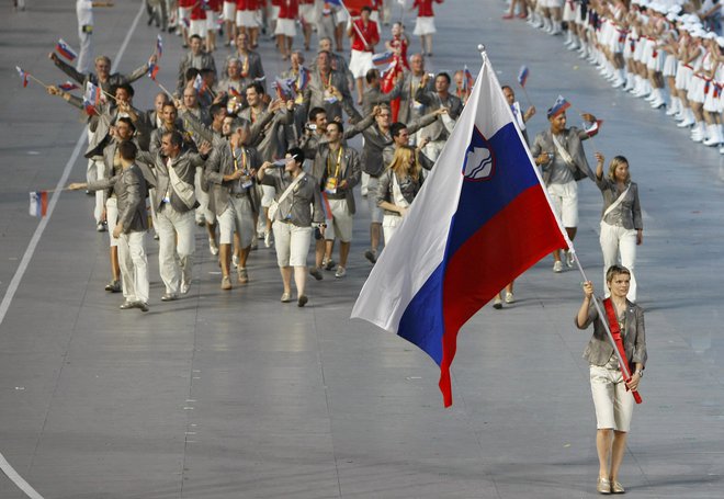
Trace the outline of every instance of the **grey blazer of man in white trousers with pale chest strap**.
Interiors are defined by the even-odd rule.
[[[171,168],[173,168],[176,173],[179,175],[179,179],[183,180],[185,183],[194,185],[196,167],[203,167],[204,160],[205,158],[203,158],[197,152],[181,151],[181,154],[177,156],[177,158],[171,162]],[[149,180],[149,183],[156,188],[155,196],[151,200],[151,203],[154,203],[154,207],[157,211],[161,209],[161,205],[163,204],[163,197],[166,196],[167,191],[170,191],[171,193],[170,196],[171,206],[173,206],[173,208],[177,212],[185,213],[189,212],[190,209],[193,209],[193,208],[189,208],[185,205],[185,203],[181,201],[181,199],[177,195],[173,188],[170,188],[169,185],[171,179],[169,178],[169,171],[166,165],[168,158],[162,156],[160,152],[151,155],[150,152],[138,151],[136,161],[146,163],[154,169],[152,179],[150,180],[147,179],[147,180]],[[199,203],[196,203],[196,205],[197,204]]]

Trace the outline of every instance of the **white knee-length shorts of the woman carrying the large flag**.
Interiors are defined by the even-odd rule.
[[[626,390],[621,371],[590,366],[591,395],[596,407],[596,428],[627,432],[631,429],[634,399]]]

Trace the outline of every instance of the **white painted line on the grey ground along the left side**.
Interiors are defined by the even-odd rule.
[[[136,18],[131,24],[131,27],[126,33],[126,37],[123,41],[121,48],[118,48],[118,52],[115,55],[113,68],[111,68],[111,72],[114,72],[118,67],[118,63],[121,61],[123,54],[126,52],[126,47],[131,42],[131,37],[133,36],[133,33],[136,31],[136,26],[138,25],[138,21],[140,20],[144,10],[145,10],[145,3],[142,2],[140,8],[138,9],[138,13],[136,14]],[[15,292],[18,291],[18,287],[20,286],[23,276],[25,275],[25,271],[27,270],[27,265],[30,264],[30,261],[33,259],[33,254],[35,254],[35,249],[37,248],[38,242],[41,242],[41,238],[43,237],[45,227],[47,227],[48,223],[50,222],[50,217],[53,216],[55,206],[58,204],[58,199],[60,197],[60,193],[63,192],[61,189],[68,182],[70,170],[72,170],[73,165],[76,165],[76,160],[78,159],[78,155],[80,155],[80,149],[86,144],[87,137],[88,137],[88,131],[83,129],[83,133],[80,134],[80,137],[78,137],[78,141],[76,143],[76,148],[73,149],[72,155],[70,155],[70,159],[66,163],[66,168],[63,170],[63,174],[60,175],[60,179],[58,180],[58,183],[55,186],[55,191],[53,192],[53,196],[50,197],[50,202],[48,203],[47,215],[41,219],[39,224],[37,224],[37,228],[35,229],[35,233],[33,233],[33,237],[31,237],[31,240],[27,243],[27,248],[25,249],[25,253],[23,254],[23,258],[20,261],[20,264],[18,265],[15,275],[13,275],[12,281],[10,281],[8,291],[5,291],[5,295],[2,298],[2,303],[0,303],[0,325],[2,325],[2,322],[5,320],[5,315],[8,314],[10,304],[12,303],[12,299],[15,296]],[[15,484],[15,486],[18,486],[20,490],[25,492],[27,497],[30,497],[31,499],[43,499],[43,496],[41,496],[27,481],[25,481],[25,479],[22,476],[20,476],[18,472],[15,472],[15,468],[13,468],[10,465],[10,463],[8,463],[8,460],[5,460],[2,453],[0,453],[0,469],[2,469],[2,473],[8,475],[8,478],[10,478],[10,480],[13,484]]]

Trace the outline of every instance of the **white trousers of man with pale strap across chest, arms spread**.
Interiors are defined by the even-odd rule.
[[[161,281],[167,293],[178,294],[181,282],[191,283],[193,253],[196,249],[193,211],[179,213],[166,203],[156,214],[156,220]]]

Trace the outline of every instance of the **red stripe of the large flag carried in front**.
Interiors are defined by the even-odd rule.
[[[444,334],[440,390],[452,405],[450,365],[457,331],[506,284],[566,241],[540,185],[523,191],[453,254],[443,282]]]

